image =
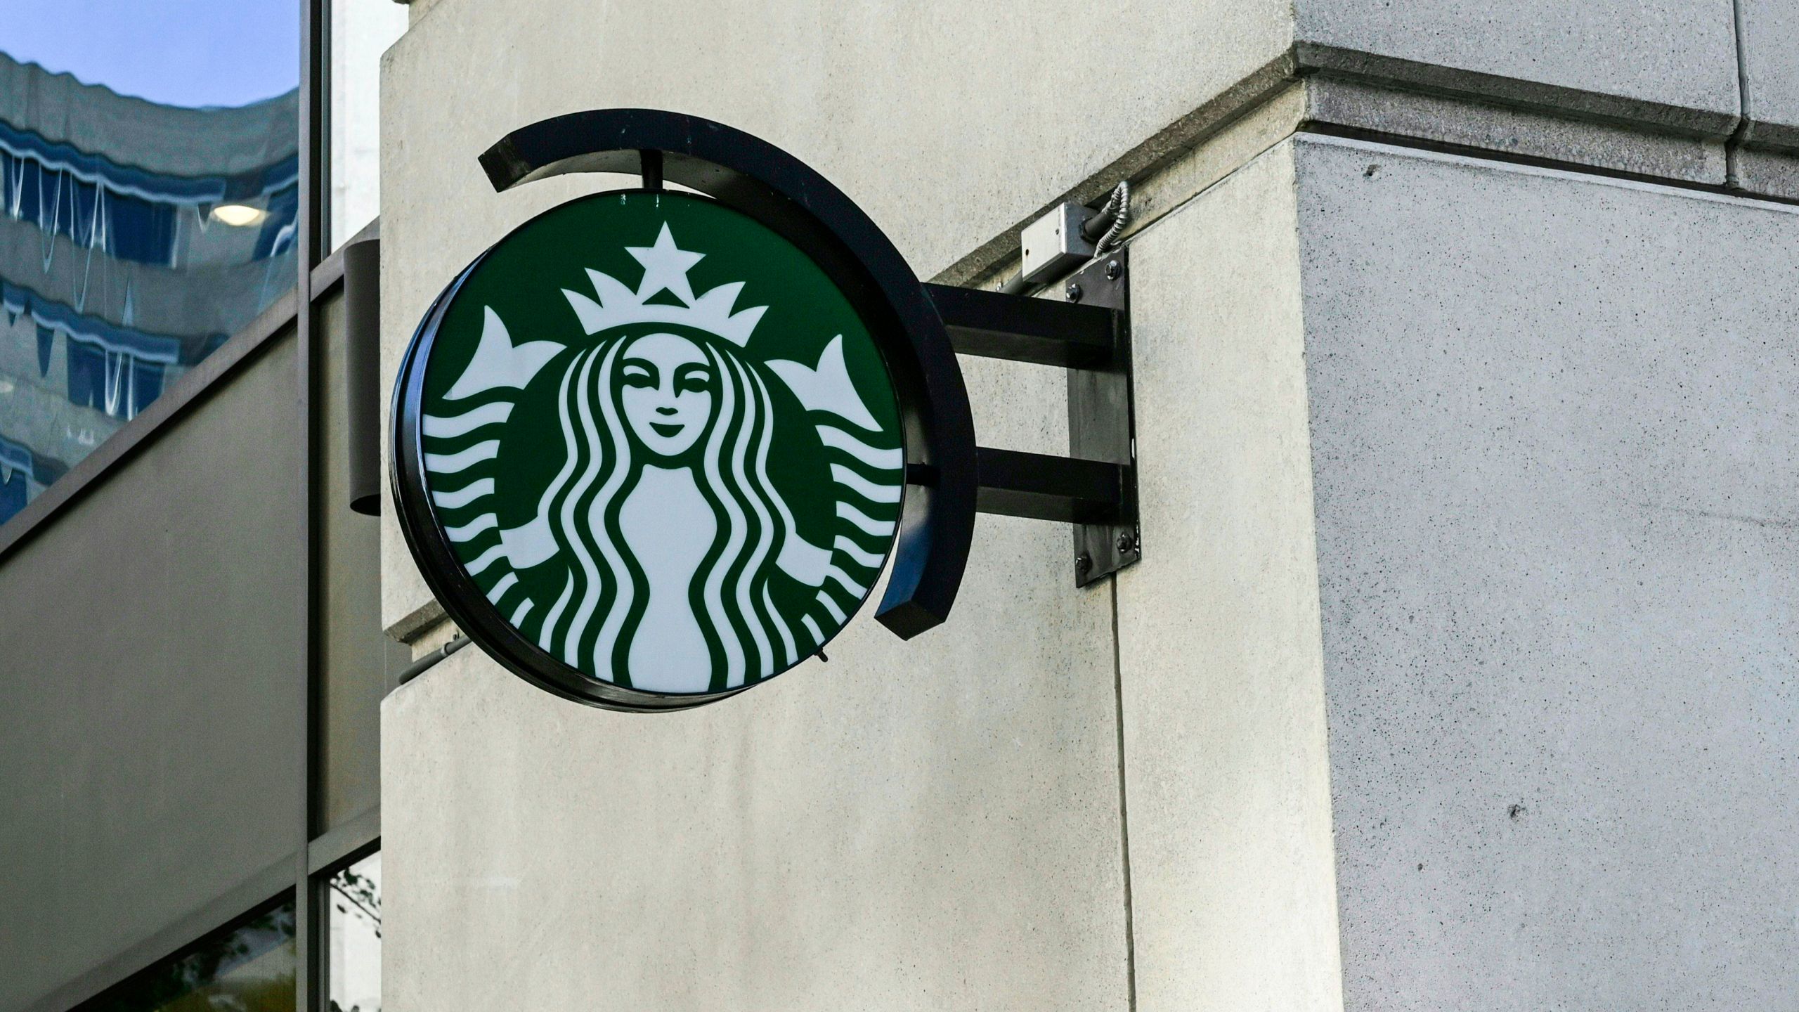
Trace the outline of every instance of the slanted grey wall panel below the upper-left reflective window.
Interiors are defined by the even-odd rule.
[[[0,564],[0,1008],[299,843],[293,348],[272,339]]]

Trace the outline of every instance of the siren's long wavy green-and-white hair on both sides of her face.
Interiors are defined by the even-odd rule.
[[[604,339],[563,371],[558,418],[567,457],[541,501],[568,580],[543,616],[538,643],[622,686],[631,684],[630,646],[648,605],[648,576],[619,526],[648,456],[630,434],[615,382],[633,340]],[[694,484],[712,506],[718,533],[687,605],[712,657],[707,691],[720,691],[786,668],[817,645],[804,632],[804,643],[795,639],[770,592],[793,513],[768,477],[775,425],[768,385],[734,349],[687,340],[705,353],[716,378],[712,416],[689,454],[698,456]]]

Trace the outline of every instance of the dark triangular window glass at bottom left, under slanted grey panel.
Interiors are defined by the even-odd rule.
[[[221,931],[79,1012],[293,1012],[293,902]]]

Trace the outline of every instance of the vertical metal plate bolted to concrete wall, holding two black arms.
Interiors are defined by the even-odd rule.
[[[1069,369],[1069,456],[1124,468],[1117,522],[1074,524],[1074,585],[1085,587],[1142,558],[1126,250],[1114,250],[1078,270],[1061,285],[1061,297],[1117,310],[1110,360],[1099,369]]]

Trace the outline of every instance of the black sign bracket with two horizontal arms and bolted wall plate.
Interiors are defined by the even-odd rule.
[[[979,447],[975,510],[1074,524],[1076,587],[1142,558],[1124,254],[1078,270],[1060,299],[925,285],[957,353],[1069,371],[1069,456]]]

